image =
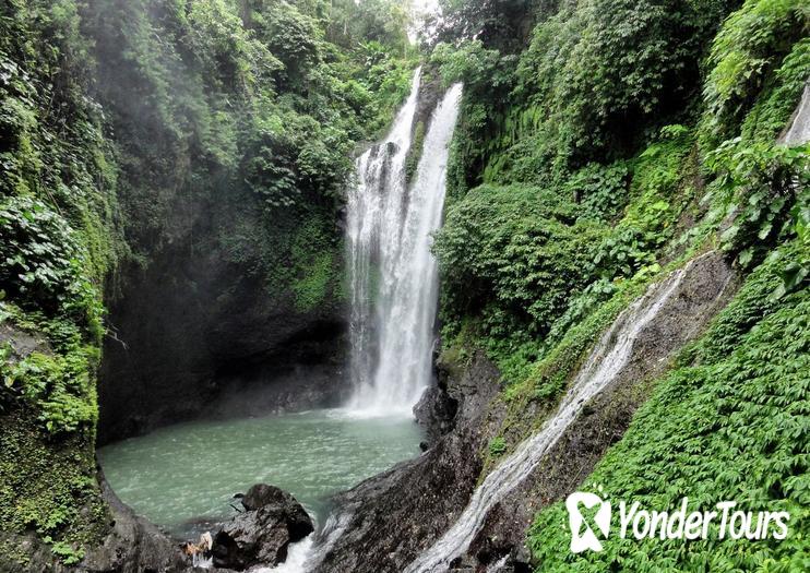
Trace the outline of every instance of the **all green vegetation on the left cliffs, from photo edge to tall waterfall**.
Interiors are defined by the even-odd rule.
[[[71,564],[108,526],[95,389],[119,268],[202,227],[297,312],[342,296],[342,192],[409,89],[406,26],[390,0],[3,3],[3,532]]]

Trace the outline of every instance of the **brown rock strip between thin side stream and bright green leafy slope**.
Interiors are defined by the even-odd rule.
[[[736,287],[737,277],[722,253],[695,259],[674,295],[642,331],[615,382],[584,405],[543,462],[489,512],[464,559],[491,564],[510,556],[510,562],[527,562],[523,542],[536,513],[576,491],[608,447],[624,435],[648,395],[650,382],[666,371],[680,348],[700,336]]]

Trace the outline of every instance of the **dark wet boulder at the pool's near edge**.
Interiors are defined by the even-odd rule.
[[[289,544],[313,530],[312,520],[296,499],[274,486],[258,484],[242,497],[245,513],[214,536],[214,565],[243,571],[276,565],[287,558]]]

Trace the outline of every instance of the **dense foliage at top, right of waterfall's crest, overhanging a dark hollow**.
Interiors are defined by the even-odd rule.
[[[646,130],[687,105],[731,4],[596,0],[540,22],[509,108],[479,134],[487,180],[541,182],[631,155]]]

